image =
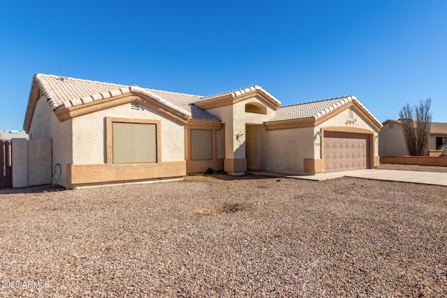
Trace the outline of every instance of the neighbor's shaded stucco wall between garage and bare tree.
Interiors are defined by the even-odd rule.
[[[393,128],[390,128],[390,124]],[[388,122],[379,133],[379,154],[380,156],[402,156],[408,154],[405,145],[402,125],[395,122]]]

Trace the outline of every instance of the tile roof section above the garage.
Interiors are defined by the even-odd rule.
[[[304,119],[314,117],[315,119],[323,117],[328,112],[341,107],[351,100],[355,100],[365,111],[380,124],[377,120],[356,98],[356,96],[341,96],[323,100],[309,101],[307,103],[296,103],[294,105],[284,105],[279,107],[272,119],[267,122],[284,121],[293,119]]]

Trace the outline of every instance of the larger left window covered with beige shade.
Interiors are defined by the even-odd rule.
[[[156,163],[156,124],[112,122],[113,163]]]

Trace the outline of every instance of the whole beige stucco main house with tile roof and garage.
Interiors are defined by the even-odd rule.
[[[381,123],[354,96],[279,106],[258,86],[196,96],[34,75],[24,129],[52,139],[68,188],[208,167],[311,174],[379,165]]]

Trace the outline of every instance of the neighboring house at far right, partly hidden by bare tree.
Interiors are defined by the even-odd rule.
[[[409,154],[406,149],[402,123],[400,120],[386,120],[379,133],[379,155],[380,156],[403,156]],[[447,144],[447,123],[432,122],[430,136],[428,138],[428,149],[430,155],[439,153],[439,147]]]

